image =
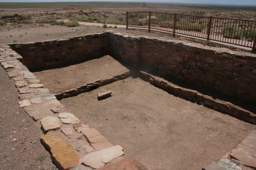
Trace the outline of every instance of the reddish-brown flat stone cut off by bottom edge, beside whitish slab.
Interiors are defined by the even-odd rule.
[[[117,162],[111,163],[105,167],[100,168],[100,170],[147,170],[147,168],[141,164],[139,161],[132,157],[123,158]],[[207,169],[208,170],[208,169]],[[218,169],[211,169],[211,170],[218,170]],[[220,169],[220,170],[225,170]]]

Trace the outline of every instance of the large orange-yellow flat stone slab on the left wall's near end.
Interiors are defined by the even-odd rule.
[[[50,151],[53,162],[59,169],[69,169],[79,164],[80,157],[61,134],[48,133],[42,136],[40,140]]]

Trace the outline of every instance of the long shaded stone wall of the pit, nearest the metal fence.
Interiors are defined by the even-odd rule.
[[[108,36],[112,56],[133,66],[256,102],[256,57],[253,54],[177,40],[110,33]]]

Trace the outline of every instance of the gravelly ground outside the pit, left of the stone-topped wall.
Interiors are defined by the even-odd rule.
[[[56,169],[40,143],[40,124],[18,105],[14,82],[0,68],[0,169]]]

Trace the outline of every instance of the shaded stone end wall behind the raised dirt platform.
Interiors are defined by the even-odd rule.
[[[29,69],[47,69],[109,54],[105,41],[104,34],[91,34],[10,46],[23,56]]]

